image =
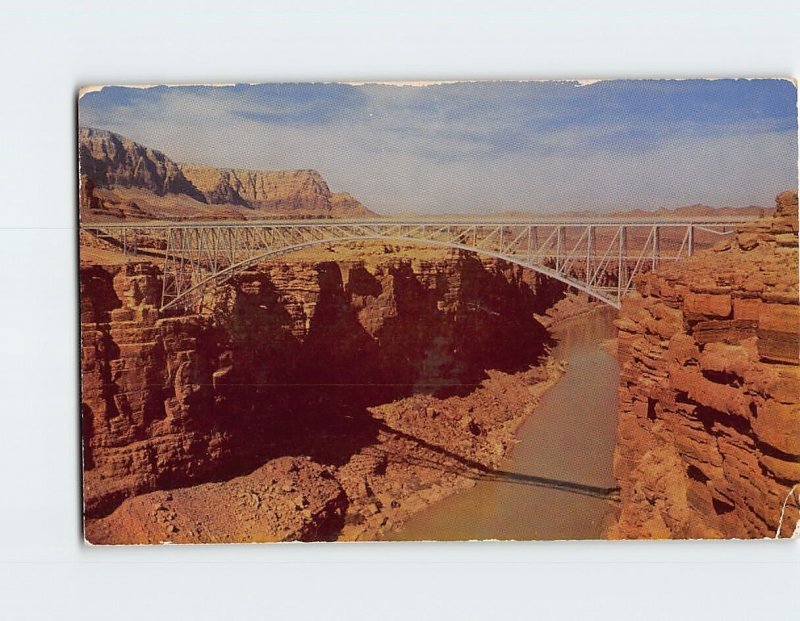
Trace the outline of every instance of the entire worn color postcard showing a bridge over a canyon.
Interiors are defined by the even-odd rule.
[[[91,544],[779,539],[785,79],[91,86]]]

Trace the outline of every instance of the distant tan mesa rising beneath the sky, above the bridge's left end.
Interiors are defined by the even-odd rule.
[[[178,164],[110,131],[81,128],[81,218],[358,218],[376,214],[334,194],[315,170]]]

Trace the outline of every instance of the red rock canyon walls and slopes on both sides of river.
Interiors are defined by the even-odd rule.
[[[636,277],[603,346],[619,363],[617,515],[592,536],[792,534],[797,217],[785,192],[773,215]],[[92,543],[394,538],[508,474],[565,372],[554,330],[597,308],[499,259],[346,242],[258,263],[203,313],[161,312],[151,259],[84,233],[81,258]]]

